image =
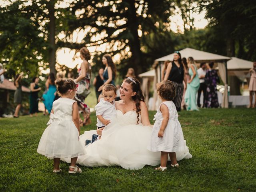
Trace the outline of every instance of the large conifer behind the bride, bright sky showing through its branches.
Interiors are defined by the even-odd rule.
[[[120,53],[121,59],[128,59],[129,66],[140,73],[149,66],[143,60],[141,39],[149,32],[156,31],[158,21],[163,24],[169,22],[170,1],[81,0],[71,3],[67,11],[70,11],[69,29],[65,31],[66,40],[59,41],[59,46],[79,48],[70,38],[72,32],[89,26],[90,30],[84,37],[83,45],[104,44],[108,46],[107,51],[110,54]],[[95,58],[105,53],[104,49],[96,51]]]

